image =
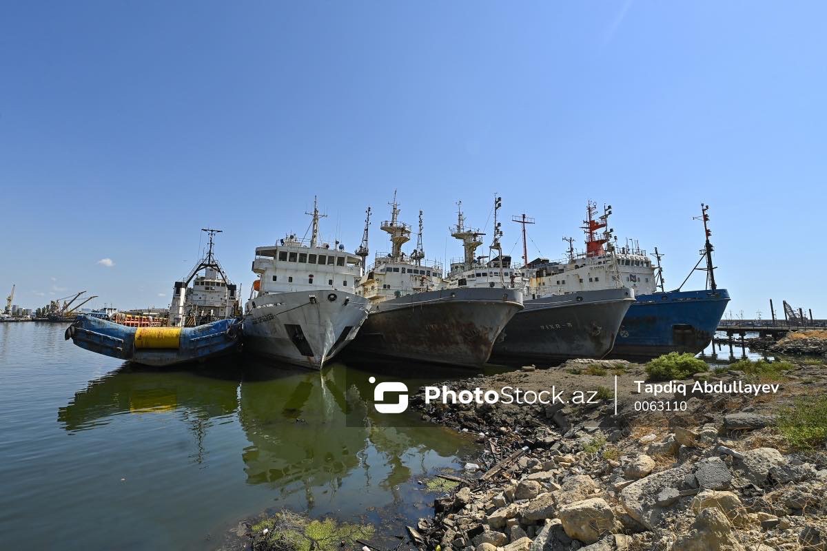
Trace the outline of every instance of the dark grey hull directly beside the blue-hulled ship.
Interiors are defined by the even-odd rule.
[[[562,363],[600,359],[612,349],[634,302],[629,289],[603,289],[531,299],[505,326],[494,363]]]

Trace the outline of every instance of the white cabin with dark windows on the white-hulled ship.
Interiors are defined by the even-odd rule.
[[[355,292],[361,259],[347,253],[344,245],[308,247],[288,235],[279,245],[256,247],[252,270],[259,274],[253,286],[259,295],[319,289]]]

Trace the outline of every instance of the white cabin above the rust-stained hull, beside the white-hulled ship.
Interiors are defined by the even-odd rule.
[[[394,260],[392,255],[380,253],[376,255],[373,267],[361,279],[356,294],[376,304],[442,287],[445,287],[445,282],[441,264],[425,260],[414,262],[405,259],[404,254],[401,259]]]

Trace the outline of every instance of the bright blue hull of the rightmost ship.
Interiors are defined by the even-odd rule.
[[[670,352],[698,354],[715,335],[729,292],[670,291],[636,298],[620,325],[610,358],[647,361]]]

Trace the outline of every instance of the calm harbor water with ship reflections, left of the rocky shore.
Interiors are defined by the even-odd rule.
[[[414,426],[381,425],[347,384],[352,365],[347,381],[342,364],[133,368],[64,330],[0,324],[3,549],[210,549],[238,520],[281,506],[415,520],[429,501],[417,478],[473,449],[414,414]],[[409,387],[461,376],[415,371],[401,377]],[[354,407],[362,426],[345,425]]]

